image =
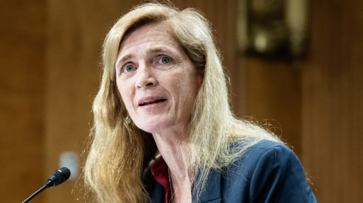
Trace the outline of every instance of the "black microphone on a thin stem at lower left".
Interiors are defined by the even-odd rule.
[[[33,199],[35,196],[37,196],[40,192],[45,190],[48,187],[53,187],[57,185],[61,185],[64,183],[68,178],[70,177],[70,170],[66,167],[62,167],[56,171],[52,175],[49,176],[48,181],[45,183],[43,187],[41,187],[39,190],[34,192],[34,194],[30,195],[26,200],[24,200],[23,203],[29,202],[31,199]]]

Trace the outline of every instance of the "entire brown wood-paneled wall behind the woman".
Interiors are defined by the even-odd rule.
[[[82,154],[102,41],[138,3],[0,2],[1,202],[21,202],[41,187],[62,152]],[[363,2],[310,1],[311,45],[301,70],[236,54],[237,0],[174,3],[200,9],[212,22],[234,112],[277,127],[318,202],[363,202]],[[82,179],[68,181],[32,202],[84,202],[81,188]]]

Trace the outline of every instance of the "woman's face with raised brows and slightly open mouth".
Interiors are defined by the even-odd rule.
[[[123,38],[117,87],[135,125],[150,133],[184,130],[202,77],[163,25],[144,25]]]

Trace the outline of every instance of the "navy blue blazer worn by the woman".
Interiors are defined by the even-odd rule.
[[[154,179],[147,188],[152,203],[164,203],[165,188],[160,183]],[[316,203],[317,200],[295,153],[285,145],[264,140],[224,172],[211,172],[200,198],[192,197],[192,203],[207,202]]]

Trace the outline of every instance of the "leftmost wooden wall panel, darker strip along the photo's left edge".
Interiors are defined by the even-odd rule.
[[[42,176],[45,43],[44,0],[0,1],[1,202],[23,202],[48,178]]]

